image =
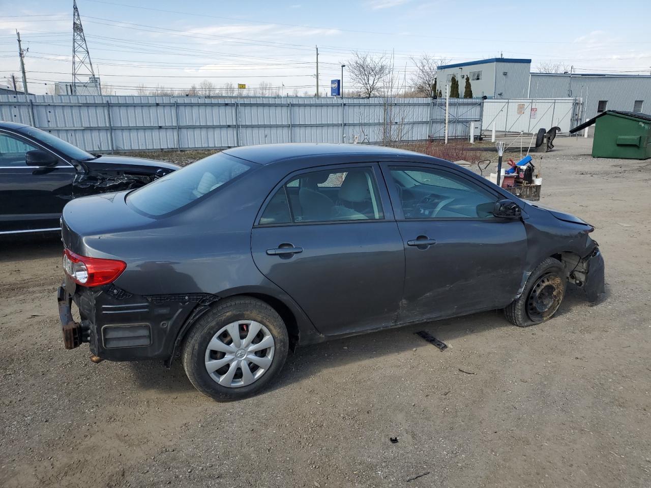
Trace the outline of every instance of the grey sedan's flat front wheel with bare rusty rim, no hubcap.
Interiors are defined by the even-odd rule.
[[[547,258],[529,275],[518,299],[504,309],[506,319],[518,327],[529,327],[553,317],[565,296],[567,274],[562,263]]]

